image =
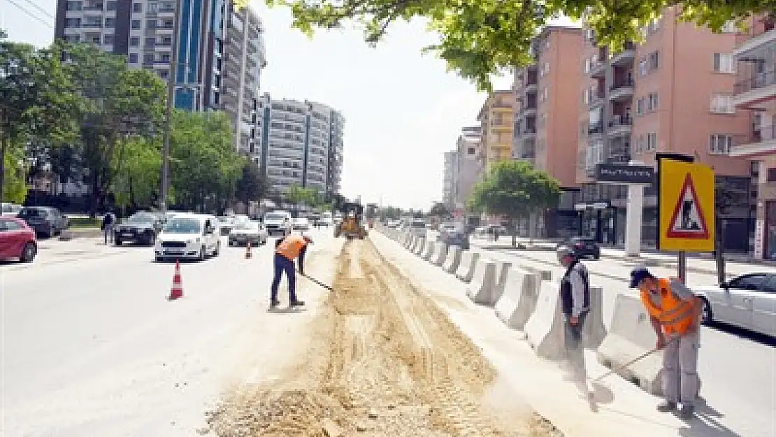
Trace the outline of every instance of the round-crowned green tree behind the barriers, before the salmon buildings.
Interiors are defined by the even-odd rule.
[[[476,183],[469,203],[475,210],[506,217],[514,246],[517,245],[516,220],[556,206],[559,199],[557,179],[525,161],[501,161],[483,181]]]

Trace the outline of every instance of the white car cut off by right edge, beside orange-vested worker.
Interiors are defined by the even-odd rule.
[[[776,337],[776,273],[747,273],[691,290],[702,300],[704,324],[719,322]]]

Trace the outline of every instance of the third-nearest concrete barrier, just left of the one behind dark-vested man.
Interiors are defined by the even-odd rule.
[[[525,328],[525,322],[536,308],[542,282],[539,275],[522,269],[509,269],[504,281],[504,293],[496,303],[496,317],[509,328]]]

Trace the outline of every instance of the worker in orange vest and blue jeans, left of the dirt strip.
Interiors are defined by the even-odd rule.
[[[302,300],[296,298],[294,259],[299,258],[299,272],[300,275],[304,276],[304,255],[310,242],[312,242],[310,237],[302,234],[286,234],[275,241],[275,279],[272,279],[270,307],[277,307],[279,304],[278,287],[284,272],[289,281],[289,307],[302,307],[304,305]]]

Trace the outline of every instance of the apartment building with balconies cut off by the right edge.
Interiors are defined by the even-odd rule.
[[[730,154],[750,163],[755,225],[753,255],[776,259],[776,26],[757,17],[750,36],[733,55],[737,78],[733,104],[752,114],[750,130],[733,144]]]

